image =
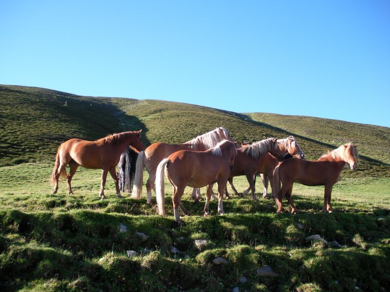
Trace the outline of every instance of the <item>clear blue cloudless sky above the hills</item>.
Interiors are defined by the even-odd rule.
[[[390,1],[0,0],[0,84],[390,127]]]

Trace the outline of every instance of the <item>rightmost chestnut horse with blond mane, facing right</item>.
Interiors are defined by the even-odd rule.
[[[291,194],[292,185],[297,182],[309,186],[324,185],[324,206],[322,210],[331,213],[332,187],[337,183],[345,164],[350,164],[352,170],[356,169],[357,156],[356,146],[348,143],[322,155],[315,161],[291,158],[281,163],[274,171],[274,179],[277,181],[275,185],[280,186],[279,179],[282,183],[282,187],[275,196],[277,212],[282,212],[282,200],[286,197],[292,208],[291,213],[296,213]]]

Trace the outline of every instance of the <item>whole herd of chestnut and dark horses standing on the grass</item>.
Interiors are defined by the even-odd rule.
[[[104,185],[108,173],[120,191],[132,190],[132,198],[140,199],[144,168],[149,174],[146,181],[147,202],[152,203],[152,190],[156,192],[158,213],[165,215],[164,177],[173,187],[175,221],[181,223],[179,208],[189,212],[181,203],[186,186],[193,187],[192,198],[201,200],[200,187],[206,188],[204,214],[209,215],[209,202],[215,198],[213,185],[218,185],[218,213],[224,214],[223,197],[229,198],[227,183],[235,195],[235,176],[245,175],[249,188],[241,196],[251,192],[255,195],[256,175],[261,174],[264,183],[263,197],[268,194],[268,181],[277,212],[283,212],[282,200],[290,203],[291,212],[296,213],[292,202],[294,182],[304,185],[324,185],[324,212],[332,212],[331,191],[338,181],[345,164],[356,168],[358,156],[356,145],[344,144],[322,155],[318,160],[305,160],[305,154],[293,136],[285,139],[268,138],[253,144],[238,145],[228,130],[215,128],[183,144],[157,142],[145,148],[141,141],[141,130],[108,135],[97,141],[70,139],[62,143],[57,151],[56,162],[51,175],[53,193],[58,191],[59,177],[67,181],[68,193],[73,194],[71,181],[79,165],[86,168],[102,169],[99,196],[105,199]],[[66,172],[69,165],[69,173]],[[119,166],[118,173],[116,166]]]

